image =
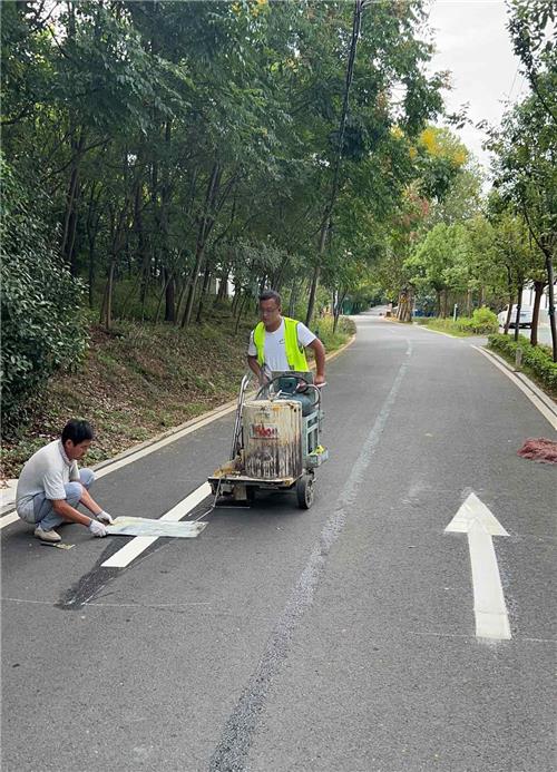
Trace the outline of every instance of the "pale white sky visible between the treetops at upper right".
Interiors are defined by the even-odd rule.
[[[502,102],[527,95],[506,23],[504,0],[431,0],[429,25],[437,48],[432,69],[452,74],[453,88],[444,92],[448,111],[469,102],[468,115],[475,124],[487,119],[498,126]],[[489,169],[489,154],[481,149],[485,133],[473,126],[456,133]]]

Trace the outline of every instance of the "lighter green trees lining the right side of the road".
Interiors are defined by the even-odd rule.
[[[553,6],[553,8],[551,8]],[[473,309],[499,312],[524,304],[534,291],[530,343],[537,345],[538,315],[545,295],[551,329],[551,358],[557,361],[555,261],[557,252],[557,47],[555,3],[510,0],[508,31],[519,70],[530,91],[509,104],[500,127],[485,126],[492,152],[492,187],[483,195],[482,174],[467,157],[450,167],[444,189],[433,195],[414,182],[381,254],[375,276],[397,317],[424,314],[450,319],[455,304],[467,319]],[[461,116],[466,124],[468,118]],[[448,137],[426,137],[439,162],[456,158]],[[466,148],[465,154],[466,154]],[[431,323],[436,324],[436,323]],[[441,326],[444,322],[441,323]],[[448,329],[455,329],[447,323]],[[461,330],[457,330],[460,332]],[[515,330],[518,340],[518,329]]]

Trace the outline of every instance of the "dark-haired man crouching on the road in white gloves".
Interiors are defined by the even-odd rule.
[[[62,522],[80,522],[94,536],[106,536],[113,518],[89,495],[95,480],[91,469],[78,469],[94,438],[87,421],[68,421],[59,440],[38,450],[25,465],[16,494],[19,517],[35,526],[42,541],[61,541],[55,528]],[[94,517],[81,515],[82,504]],[[96,519],[95,519],[96,518]]]

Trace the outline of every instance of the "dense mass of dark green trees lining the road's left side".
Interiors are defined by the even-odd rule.
[[[446,173],[420,140],[444,82],[422,0],[0,10],[4,438],[127,322],[180,351],[211,335],[214,301],[240,335],[272,287],[335,328],[373,296],[408,186]]]

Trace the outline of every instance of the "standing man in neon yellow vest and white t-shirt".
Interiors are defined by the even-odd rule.
[[[315,353],[315,385],[325,383],[325,348],[302,322],[281,314],[281,295],[267,290],[260,295],[262,321],[253,330],[247,349],[247,363],[264,384],[272,372],[296,370],[307,372],[304,349]]]

